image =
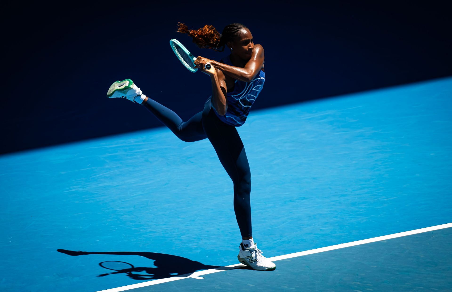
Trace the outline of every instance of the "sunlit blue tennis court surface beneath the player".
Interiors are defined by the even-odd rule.
[[[451,110],[452,78],[251,110],[237,130],[265,256],[443,225],[269,272],[236,265],[232,182],[207,139],[162,127],[2,155],[0,290],[450,291]],[[104,261],[142,271],[98,277]]]

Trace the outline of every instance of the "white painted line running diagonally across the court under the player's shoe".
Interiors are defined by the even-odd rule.
[[[439,229],[444,229],[444,228],[450,228],[450,227],[452,227],[452,223],[436,225],[436,226],[432,226],[432,227],[426,227],[426,228],[410,230],[410,231],[405,231],[405,232],[400,232],[400,233],[394,233],[394,234],[390,234],[390,235],[383,235],[383,236],[378,236],[378,237],[369,238],[369,239],[347,242],[347,243],[343,243],[343,244],[336,244],[336,245],[331,245],[331,246],[327,246],[327,247],[322,247],[319,249],[311,249],[311,250],[301,251],[301,252],[293,253],[293,254],[283,254],[283,255],[279,255],[279,256],[276,256],[273,258],[268,258],[268,259],[271,261],[278,261],[278,260],[286,259],[286,258],[296,258],[296,257],[300,257],[302,255],[316,254],[316,253],[321,253],[324,251],[329,251],[329,250],[334,250],[334,249],[343,249],[345,247],[350,247],[350,246],[355,246],[355,245],[360,245],[360,244],[367,244],[367,243],[371,243],[371,242],[392,239],[392,238],[397,238],[397,237],[402,237],[402,236],[407,236],[407,235],[413,235],[413,234],[418,234],[418,233],[423,233],[423,232],[428,232],[428,231],[433,231],[433,230],[439,230]],[[226,267],[214,268],[214,269],[210,269],[210,270],[203,270],[203,271],[194,272],[191,274],[181,275],[179,277],[157,279],[157,280],[152,280],[152,281],[148,281],[148,282],[141,282],[141,283],[137,283],[137,284],[122,286],[122,287],[118,287],[118,288],[111,288],[111,289],[97,291],[97,292],[119,292],[119,291],[146,287],[146,286],[151,286],[151,285],[155,285],[155,284],[172,282],[172,281],[177,281],[177,280],[182,280],[182,279],[187,279],[187,278],[203,279],[202,277],[199,277],[199,276],[212,274],[212,273],[218,273],[221,271],[227,271],[227,270],[231,270],[234,268],[240,268],[240,267],[245,267],[245,265],[241,264],[241,263],[237,263],[237,264],[233,264],[233,265],[226,266]]]

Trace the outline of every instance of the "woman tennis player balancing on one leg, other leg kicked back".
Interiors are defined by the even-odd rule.
[[[174,111],[144,95],[130,79],[114,82],[107,96],[127,98],[145,106],[182,141],[209,139],[234,183],[234,211],[242,236],[237,257],[240,263],[255,270],[274,270],[276,265],[262,255],[253,240],[250,165],[235,129],[245,123],[251,105],[264,86],[264,48],[254,44],[250,30],[240,23],[226,25],[222,34],[212,25],[188,30],[185,24],[179,23],[177,31],[191,36],[199,48],[223,52],[227,46],[231,50],[220,62],[201,56],[194,61],[212,81],[212,96],[202,111],[184,122]],[[206,69],[206,63],[212,67]]]

